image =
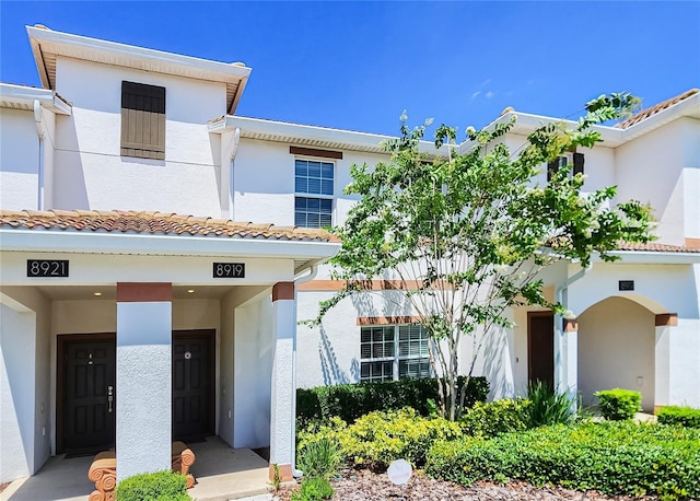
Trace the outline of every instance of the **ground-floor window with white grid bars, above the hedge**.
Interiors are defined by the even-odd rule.
[[[418,324],[362,327],[360,359],[360,381],[431,375],[428,335]]]

